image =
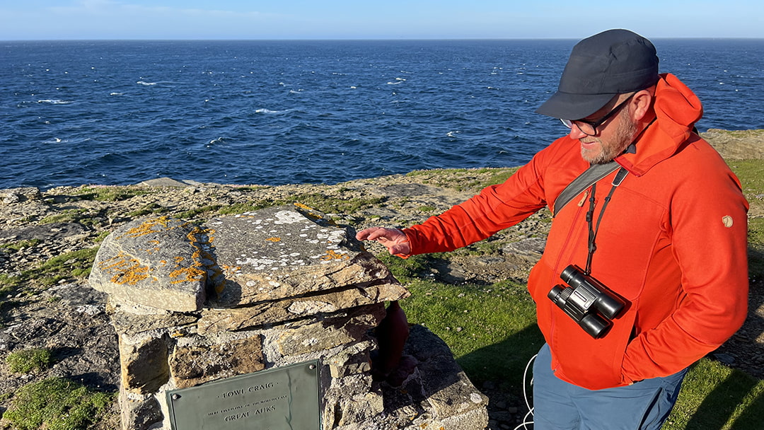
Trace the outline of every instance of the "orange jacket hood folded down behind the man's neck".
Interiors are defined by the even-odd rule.
[[[636,153],[616,157],[617,163],[636,176],[676,154],[703,116],[698,96],[671,73],[660,76],[653,108],[656,121],[635,142]]]

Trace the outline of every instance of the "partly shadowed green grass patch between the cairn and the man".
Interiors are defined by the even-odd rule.
[[[478,286],[415,281],[403,309],[410,322],[429,328],[451,348],[458,364],[477,386],[490,380],[520,393],[523,369],[539,351],[533,301],[524,286]]]

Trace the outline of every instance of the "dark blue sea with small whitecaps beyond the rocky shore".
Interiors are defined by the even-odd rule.
[[[576,41],[0,41],[0,189],[520,166]],[[653,43],[700,131],[764,128],[764,40]]]

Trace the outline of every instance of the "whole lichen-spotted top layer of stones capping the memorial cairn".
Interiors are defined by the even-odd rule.
[[[299,205],[212,218],[201,226],[139,219],[106,238],[90,284],[118,302],[180,312],[205,303],[230,309],[282,299],[301,301],[282,308],[341,309],[407,296],[349,234]],[[306,304],[305,296],[316,295],[325,302]]]

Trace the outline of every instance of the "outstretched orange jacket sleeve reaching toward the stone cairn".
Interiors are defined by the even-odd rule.
[[[465,247],[539,211],[546,205],[540,168],[537,154],[506,182],[488,186],[441,215],[403,229],[410,241],[411,254]]]

